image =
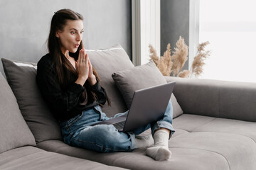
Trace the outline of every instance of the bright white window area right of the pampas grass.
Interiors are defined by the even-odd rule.
[[[255,0],[199,2],[199,42],[211,50],[200,78],[256,82],[255,7]]]

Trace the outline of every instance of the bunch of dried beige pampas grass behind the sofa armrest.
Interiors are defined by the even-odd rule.
[[[159,68],[161,74],[164,76],[174,77],[192,77],[194,74],[195,77],[198,77],[203,73],[203,65],[205,64],[206,58],[210,55],[210,51],[205,51],[206,45],[209,42],[203,42],[198,45],[198,52],[196,57],[194,57],[191,70],[183,70],[182,68],[185,62],[188,60],[188,46],[181,36],[176,42],[176,47],[174,48],[173,55],[171,55],[171,45],[168,44],[164,56],[158,57],[156,55],[156,50],[152,45],[149,45],[150,60],[154,61],[156,67]]]

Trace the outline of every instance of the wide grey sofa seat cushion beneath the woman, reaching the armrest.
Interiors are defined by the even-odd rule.
[[[218,126],[218,127],[217,127]],[[73,157],[127,169],[254,169],[256,167],[256,123],[183,114],[174,119],[169,140],[171,159],[156,162],[146,157],[145,149],[134,152],[101,154],[51,140],[38,147]]]

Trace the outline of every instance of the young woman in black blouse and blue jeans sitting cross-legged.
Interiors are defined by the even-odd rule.
[[[70,9],[57,11],[50,23],[49,53],[38,62],[36,81],[60,123],[64,142],[96,152],[132,152],[148,147],[149,157],[160,161],[169,159],[168,141],[174,133],[171,101],[163,119],[132,132],[119,132],[113,125],[90,126],[110,119],[101,110],[106,102],[110,105],[110,99],[82,46],[82,19]],[[127,112],[114,117],[124,114]],[[152,135],[135,137],[148,128],[154,140]]]

